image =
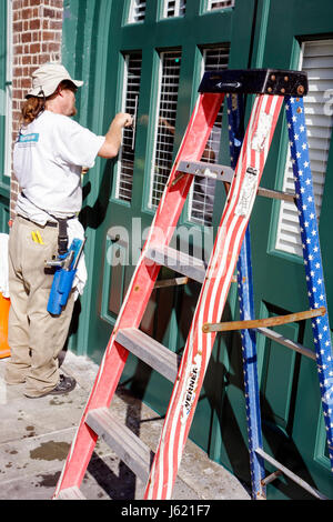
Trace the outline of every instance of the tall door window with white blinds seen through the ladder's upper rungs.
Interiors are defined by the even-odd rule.
[[[229,44],[203,50],[204,71],[226,69]],[[208,140],[201,161],[218,163],[222,128],[223,106],[220,109],[211,135]],[[190,220],[194,223],[210,225],[213,217],[215,180],[194,178],[190,194]]]

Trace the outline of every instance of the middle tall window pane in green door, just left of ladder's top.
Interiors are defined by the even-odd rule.
[[[181,51],[161,53],[159,109],[155,126],[149,208],[158,207],[173,163],[180,68]]]

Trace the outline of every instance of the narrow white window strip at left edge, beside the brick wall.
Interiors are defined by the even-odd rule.
[[[4,8],[4,12],[2,17],[3,32],[1,31],[2,37],[0,41],[0,46],[3,49],[0,57],[0,119],[2,120],[0,123],[2,135],[2,142],[0,143],[0,172],[10,177],[12,141],[12,0],[7,0],[7,4],[3,4],[2,8]]]

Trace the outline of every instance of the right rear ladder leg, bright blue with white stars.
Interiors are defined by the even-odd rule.
[[[303,98],[285,97],[285,109],[309,302],[312,309],[320,307],[327,309]],[[327,313],[324,317],[313,319],[312,329],[327,446],[333,471],[333,363]]]

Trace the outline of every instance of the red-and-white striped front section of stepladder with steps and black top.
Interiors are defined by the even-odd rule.
[[[171,498],[215,339],[214,332],[203,332],[203,325],[216,323],[222,317],[284,100],[281,92],[278,92],[281,81],[278,72],[276,81],[270,79],[272,74],[268,76],[268,71],[248,71],[245,77],[244,72],[222,71],[218,72],[215,78],[210,74],[209,86],[205,78],[202,82],[201,93],[110,337],[54,499],[82,498],[80,484],[99,436],[102,436],[122,460],[125,459],[132,471],[147,482],[147,500]],[[242,80],[243,77],[246,81]],[[302,87],[304,78],[300,74],[292,77],[292,80],[290,84],[283,84],[286,94],[293,94]],[[175,252],[169,243],[193,181],[194,172],[188,173],[186,165],[194,162],[198,165],[195,174],[200,174],[198,162],[202,158],[224,93],[238,92],[239,89],[244,89],[245,83],[250,86],[249,92],[256,93],[256,97],[234,175],[230,175],[228,168],[221,168],[216,173],[216,178],[229,181],[231,188],[205,270],[198,267],[193,258]],[[204,171],[208,167],[205,164],[201,170]],[[214,168],[216,170],[216,165]],[[176,272],[202,283],[179,367],[175,353],[139,330],[161,265],[168,264],[170,259]],[[142,360],[145,359],[144,354],[149,353],[147,360],[149,359],[152,368],[174,382],[152,464],[150,450],[129,432],[128,428],[119,425],[119,421],[109,410],[129,352]]]

